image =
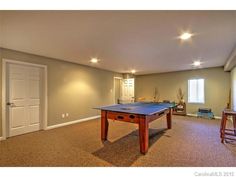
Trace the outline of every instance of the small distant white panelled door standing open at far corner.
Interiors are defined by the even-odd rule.
[[[122,100],[123,103],[134,102],[134,78],[123,79]]]

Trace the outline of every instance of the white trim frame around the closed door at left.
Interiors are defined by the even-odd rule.
[[[7,93],[7,64],[20,64],[25,66],[34,66],[41,68],[42,73],[42,115],[43,117],[40,118],[40,129],[46,130],[47,128],[47,117],[48,117],[48,91],[47,91],[47,66],[29,62],[22,62],[17,60],[11,59],[2,59],[2,139],[5,140],[7,138],[7,117],[6,117],[6,93]]]

